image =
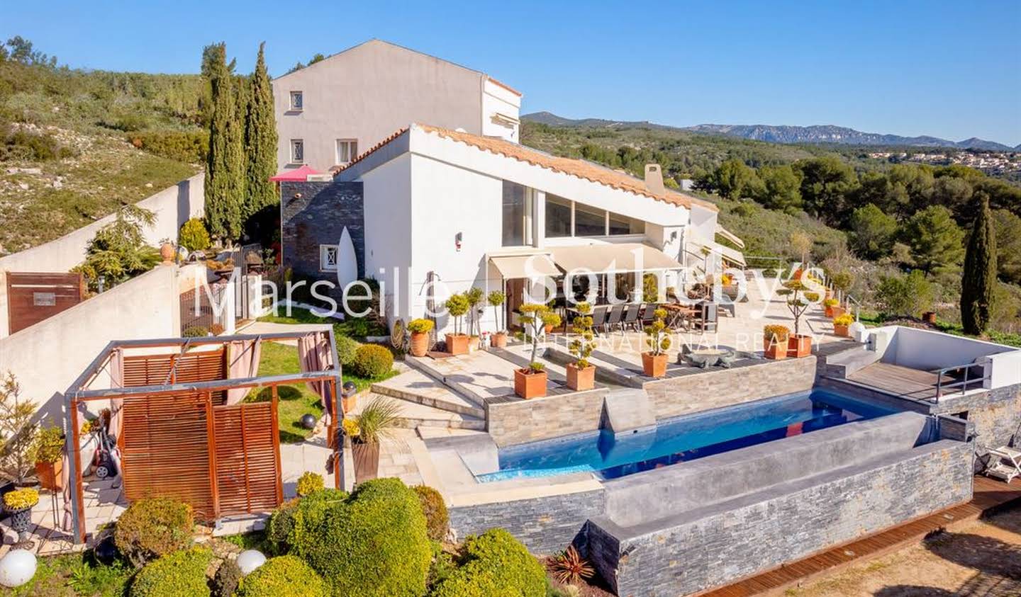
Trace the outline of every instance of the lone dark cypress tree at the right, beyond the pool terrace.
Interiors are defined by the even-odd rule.
[[[992,293],[996,287],[996,231],[989,198],[975,194],[981,206],[968,241],[961,278],[961,324],[968,334],[981,334],[989,325]]]

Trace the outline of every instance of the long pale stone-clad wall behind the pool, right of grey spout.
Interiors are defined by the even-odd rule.
[[[766,360],[733,369],[647,382],[657,418],[669,418],[812,389],[816,357]]]

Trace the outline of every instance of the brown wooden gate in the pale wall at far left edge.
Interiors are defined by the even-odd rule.
[[[10,334],[25,330],[85,300],[81,273],[7,272]]]

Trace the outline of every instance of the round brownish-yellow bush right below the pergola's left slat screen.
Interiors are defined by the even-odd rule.
[[[192,507],[171,498],[135,500],[120,514],[113,542],[135,565],[184,549],[191,543]]]

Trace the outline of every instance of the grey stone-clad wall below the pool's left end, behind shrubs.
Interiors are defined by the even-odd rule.
[[[450,508],[457,538],[502,528],[536,554],[566,549],[605,509],[603,490]]]

